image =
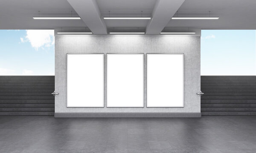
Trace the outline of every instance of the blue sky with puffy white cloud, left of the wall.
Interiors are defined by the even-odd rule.
[[[0,30],[0,75],[54,75],[53,30]]]

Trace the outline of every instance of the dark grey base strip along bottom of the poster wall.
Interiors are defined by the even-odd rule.
[[[201,117],[201,113],[54,113],[54,117]]]

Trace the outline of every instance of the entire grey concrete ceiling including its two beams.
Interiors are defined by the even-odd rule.
[[[161,4],[161,5],[160,5]],[[88,27],[95,34],[107,28],[163,27],[199,29],[256,29],[256,0],[0,0],[0,29]],[[168,10],[169,8],[169,10]],[[157,11],[156,11],[157,10]],[[80,16],[82,20],[33,20],[33,16]],[[103,20],[108,16],[151,16],[152,20]],[[211,16],[219,20],[170,20],[178,16]],[[175,14],[176,16],[176,14]],[[152,28],[151,28],[152,27]]]

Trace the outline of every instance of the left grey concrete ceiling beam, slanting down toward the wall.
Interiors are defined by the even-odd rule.
[[[108,34],[96,0],[67,0],[93,34]]]

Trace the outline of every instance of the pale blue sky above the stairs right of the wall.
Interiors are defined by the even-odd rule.
[[[256,75],[256,31],[202,30],[201,75]]]

